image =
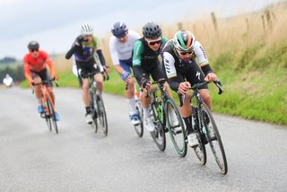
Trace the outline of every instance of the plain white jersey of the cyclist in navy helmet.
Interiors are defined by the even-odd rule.
[[[120,42],[115,36],[109,39],[109,52],[114,65],[120,65],[120,61],[128,61],[132,57],[135,41],[141,36],[135,31],[128,31],[125,43]],[[127,63],[127,62],[124,62]]]

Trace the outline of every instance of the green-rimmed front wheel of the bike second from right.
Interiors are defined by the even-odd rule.
[[[165,102],[164,110],[165,110],[166,119],[167,119],[166,124],[170,132],[170,138],[171,138],[172,144],[174,148],[176,149],[177,153],[181,157],[184,157],[187,155],[185,126],[183,124],[177,105],[170,97],[168,97],[168,99]],[[170,118],[170,112],[172,110],[174,110],[175,115],[177,117],[176,122],[172,122]]]

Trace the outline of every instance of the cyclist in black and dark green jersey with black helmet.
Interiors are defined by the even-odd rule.
[[[153,81],[158,81],[162,78],[166,78],[163,72],[159,55],[166,43],[167,38],[161,35],[161,28],[154,22],[148,22],[143,26],[143,38],[135,41],[133,51],[133,70],[137,83],[143,88],[143,94],[141,101],[143,105],[143,125],[149,130],[154,130],[154,125],[151,119],[151,113],[149,105],[151,97],[145,98],[147,89],[152,92],[152,84],[150,82],[150,75],[152,75]],[[166,91],[171,95],[168,83],[165,83]],[[174,112],[174,111],[173,111]],[[175,113],[171,112],[172,122],[178,119]]]

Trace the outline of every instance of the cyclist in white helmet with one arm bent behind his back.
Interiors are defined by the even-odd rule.
[[[103,89],[103,75],[101,74],[100,66],[96,65],[95,54],[100,58],[100,65],[105,73],[109,72],[106,67],[105,57],[100,48],[99,39],[93,36],[93,28],[88,23],[83,23],[81,26],[81,35],[79,35],[72,48],[66,53],[65,58],[69,59],[74,55],[76,67],[78,69],[79,81],[83,89],[83,103],[86,109],[86,123],[92,123],[92,115],[90,108],[89,81],[86,74],[94,74],[94,80],[97,84],[97,89],[101,93]],[[80,77],[81,76],[81,77]]]

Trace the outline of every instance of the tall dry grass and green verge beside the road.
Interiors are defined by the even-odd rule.
[[[279,4],[260,13],[162,25],[171,38],[178,26],[193,31],[203,44],[225,92],[210,86],[213,111],[287,125],[287,7]],[[109,58],[109,36],[101,44]],[[62,86],[78,87],[71,63],[54,59]],[[113,70],[105,92],[123,95],[124,83]]]

